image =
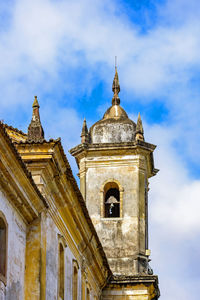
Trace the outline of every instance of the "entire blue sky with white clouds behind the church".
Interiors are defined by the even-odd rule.
[[[161,299],[199,300],[198,0],[1,0],[0,119],[27,131],[37,95],[46,138],[67,153],[83,118],[90,126],[111,103],[115,55],[121,104],[158,145],[149,205]]]

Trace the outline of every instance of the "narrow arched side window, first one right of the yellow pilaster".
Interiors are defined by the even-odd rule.
[[[64,269],[64,247],[62,243],[59,243],[59,266],[58,266],[58,294],[59,300],[64,300],[64,280],[65,280],[65,269]]]

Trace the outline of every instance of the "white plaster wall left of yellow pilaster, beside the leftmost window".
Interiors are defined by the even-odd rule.
[[[0,211],[3,212],[8,223],[7,286],[4,293],[5,300],[23,300],[26,224],[1,191]],[[1,289],[1,292],[2,290],[3,289]]]

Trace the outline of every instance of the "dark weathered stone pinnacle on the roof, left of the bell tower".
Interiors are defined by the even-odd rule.
[[[40,122],[40,113],[39,113],[39,103],[37,96],[35,96],[33,102],[33,114],[32,120],[28,127],[28,142],[43,142],[44,141],[44,131]]]

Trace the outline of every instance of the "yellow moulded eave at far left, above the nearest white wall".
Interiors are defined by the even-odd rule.
[[[47,207],[47,203],[2,123],[0,123],[0,169],[0,184],[3,193],[24,221],[32,222]]]

